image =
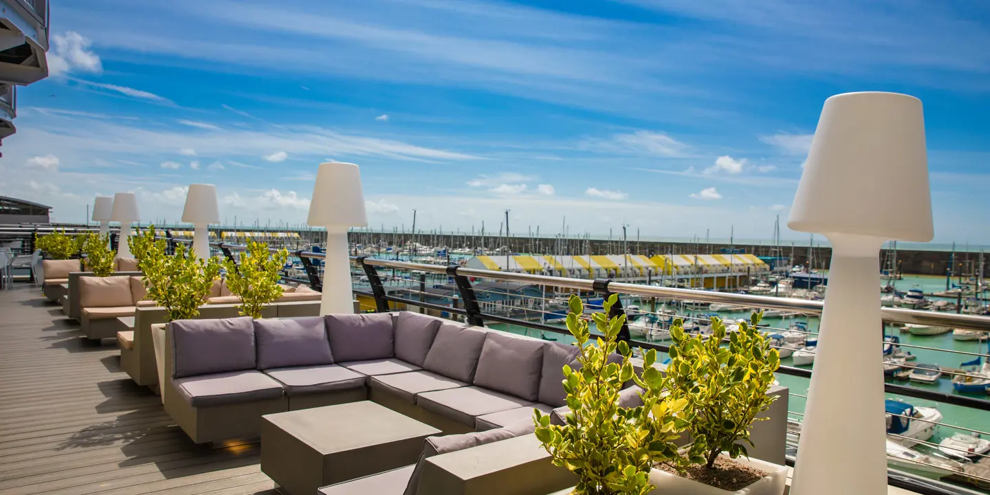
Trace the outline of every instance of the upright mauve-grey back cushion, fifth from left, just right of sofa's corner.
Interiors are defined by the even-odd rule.
[[[474,370],[478,364],[478,356],[481,355],[481,347],[485,344],[485,334],[487,332],[483,330],[463,325],[441,324],[423,367],[470,383],[474,380]]]

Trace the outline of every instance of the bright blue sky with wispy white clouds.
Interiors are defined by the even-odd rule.
[[[979,0],[51,3],[0,194],[57,220],[118,191],[175,220],[205,182],[300,223],[330,158],[375,227],[768,239],[825,99],[885,90],[925,104],[936,242],[990,245]]]

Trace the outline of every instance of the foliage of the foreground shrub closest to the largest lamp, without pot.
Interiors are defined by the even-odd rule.
[[[748,324],[740,323],[739,331],[729,334],[728,347],[721,346],[726,326],[718,318],[712,318],[708,339],[687,335],[680,320],[670,329],[674,344],[667,387],[670,396],[685,400],[692,412],[692,463],[711,468],[722,452],[748,457],[742,442],[752,446],[749,427],[776,399],[766,390],[780,366],[780,354],[756,329],[759,320],[760,314],[753,313]]]

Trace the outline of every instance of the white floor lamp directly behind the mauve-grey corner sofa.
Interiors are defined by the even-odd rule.
[[[353,313],[347,230],[367,226],[357,165],[336,161],[320,164],[306,223],[327,228],[320,314]]]

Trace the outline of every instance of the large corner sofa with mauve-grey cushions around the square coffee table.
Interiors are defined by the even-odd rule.
[[[577,351],[410,312],[185,320],[166,331],[162,398],[196,443],[256,437],[264,414],[367,398],[467,433],[563,406],[560,369]]]

